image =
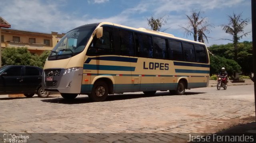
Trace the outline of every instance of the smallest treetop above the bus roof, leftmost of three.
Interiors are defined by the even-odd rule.
[[[165,15],[164,15],[165,16]],[[164,20],[164,16],[160,17],[160,18],[157,18],[155,19],[153,16],[151,16],[150,19],[147,18],[148,20],[148,25],[150,26],[150,28],[152,30],[155,30],[155,31],[160,31],[161,27],[166,24],[166,20]],[[168,29],[168,28],[167,28]],[[164,29],[162,30],[165,31],[167,29]]]

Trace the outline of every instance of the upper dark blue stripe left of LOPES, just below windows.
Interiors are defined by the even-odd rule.
[[[118,61],[118,62],[130,62],[130,63],[137,63],[138,58],[128,58],[128,57],[115,57],[115,56],[108,56],[108,57],[93,57],[87,58],[85,63],[90,63],[91,60],[102,60],[102,61]]]

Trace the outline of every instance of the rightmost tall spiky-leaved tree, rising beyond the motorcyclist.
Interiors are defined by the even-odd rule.
[[[232,35],[232,40],[231,39],[224,39],[224,40],[230,40],[234,44],[234,60],[238,61],[238,41],[243,37],[246,36],[250,32],[244,33],[244,27],[248,25],[249,18],[246,18],[243,20],[242,18],[242,13],[240,14],[235,14],[233,13],[233,16],[228,15],[228,24],[227,25],[221,25],[223,30]],[[242,35],[238,35],[238,34]]]

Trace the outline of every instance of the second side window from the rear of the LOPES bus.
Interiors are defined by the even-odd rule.
[[[186,42],[182,42],[183,56],[185,61],[195,62],[195,50],[194,45]]]

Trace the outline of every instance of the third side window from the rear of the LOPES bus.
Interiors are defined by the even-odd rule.
[[[169,57],[175,61],[183,61],[182,45],[180,41],[168,39],[169,43]]]

